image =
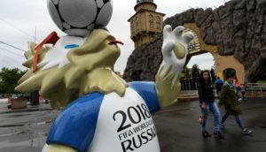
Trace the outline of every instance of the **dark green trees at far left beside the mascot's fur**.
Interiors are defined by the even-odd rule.
[[[15,93],[14,88],[18,85],[18,80],[25,72],[18,68],[2,68],[0,72],[0,94]]]

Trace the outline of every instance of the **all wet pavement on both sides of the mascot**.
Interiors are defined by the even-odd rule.
[[[224,140],[201,137],[197,101],[177,103],[161,110],[153,116],[161,152],[265,152],[266,98],[248,99],[242,103],[242,107],[243,122],[254,133],[242,134],[231,117],[226,122],[226,129],[222,131]],[[58,112],[44,103],[30,106],[27,110],[8,110],[5,104],[0,104],[0,152],[41,151]],[[210,133],[211,119],[207,124]]]

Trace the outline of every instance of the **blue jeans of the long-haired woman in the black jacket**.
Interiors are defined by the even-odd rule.
[[[200,106],[200,109],[201,109],[201,106]],[[201,112],[204,115],[204,120],[201,125],[202,132],[207,131],[206,125],[207,125],[207,116],[208,116],[209,110],[214,115],[214,133],[219,132],[220,131],[220,110],[215,102],[206,103],[206,109],[205,110],[201,109]]]

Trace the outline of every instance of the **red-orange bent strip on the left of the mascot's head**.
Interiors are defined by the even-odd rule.
[[[59,36],[58,36],[58,34],[56,32],[53,31],[51,34],[49,34],[43,40],[43,42],[41,42],[40,44],[38,44],[35,47],[35,57],[34,57],[33,65],[32,65],[33,72],[36,72],[37,71],[38,57],[39,57],[39,54],[40,54],[41,49],[43,48],[43,45],[44,44],[48,44],[48,43],[55,44],[58,41],[59,41]]]

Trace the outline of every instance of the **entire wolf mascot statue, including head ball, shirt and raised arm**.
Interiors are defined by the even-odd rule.
[[[121,42],[106,30],[112,1],[47,2],[51,18],[66,35],[53,32],[38,45],[28,44],[28,71],[16,87],[39,90],[51,107],[64,107],[43,152],[160,152],[151,113],[176,102],[193,34],[184,33],[184,27],[164,27],[156,82],[128,84],[113,72]]]

